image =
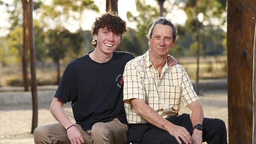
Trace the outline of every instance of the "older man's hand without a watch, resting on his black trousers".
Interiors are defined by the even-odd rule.
[[[185,127],[181,126],[174,126],[171,128],[171,130],[168,131],[170,135],[176,138],[179,144],[182,142],[180,141],[180,138],[186,143],[186,144],[191,144],[191,136],[187,129]],[[180,138],[179,138],[180,137]]]

